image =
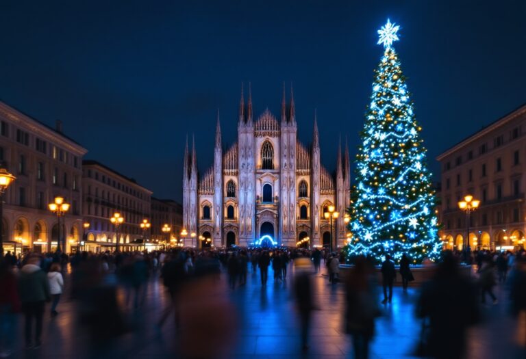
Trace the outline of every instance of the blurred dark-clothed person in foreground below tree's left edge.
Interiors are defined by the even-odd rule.
[[[358,256],[345,282],[345,332],[351,334],[355,359],[369,357],[369,343],[379,317],[373,270],[364,256]]]

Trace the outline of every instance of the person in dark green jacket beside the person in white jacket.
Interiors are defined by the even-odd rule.
[[[45,302],[51,300],[49,280],[39,264],[38,256],[29,256],[18,277],[18,290],[25,317],[25,347],[26,349],[38,348],[41,345],[42,319],[44,316]],[[33,337],[33,322],[35,333]]]

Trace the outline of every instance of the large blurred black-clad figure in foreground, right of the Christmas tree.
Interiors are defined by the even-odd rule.
[[[463,276],[456,258],[447,252],[430,282],[422,287],[416,315],[429,320],[427,351],[431,358],[460,359],[466,351],[466,331],[477,323],[477,291]]]

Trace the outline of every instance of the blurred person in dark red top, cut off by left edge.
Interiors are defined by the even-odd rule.
[[[12,258],[0,259],[0,358],[11,355],[16,330],[16,313],[21,309]]]

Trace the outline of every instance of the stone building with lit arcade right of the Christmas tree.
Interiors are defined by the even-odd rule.
[[[471,248],[517,248],[525,243],[526,105],[438,156],[441,166],[441,238],[447,248],[466,245],[466,213],[458,201],[480,200],[471,213]]]

